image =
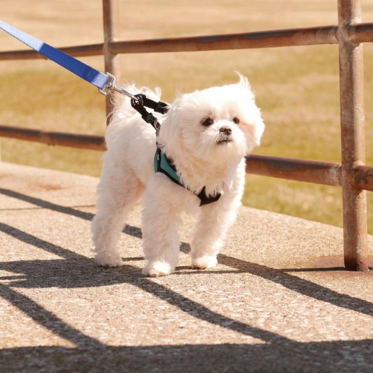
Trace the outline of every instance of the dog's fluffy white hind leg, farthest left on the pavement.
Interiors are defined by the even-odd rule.
[[[123,261],[117,244],[124,220],[143,194],[144,186],[132,170],[118,164],[105,165],[105,160],[97,187],[97,215],[92,220],[91,228],[97,263],[105,267],[119,267]]]

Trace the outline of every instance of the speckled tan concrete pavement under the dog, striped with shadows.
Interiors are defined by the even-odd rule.
[[[373,277],[342,230],[242,207],[219,265],[145,278],[140,207],[125,265],[98,267],[97,178],[0,163],[0,372],[371,372]],[[373,237],[369,237],[373,256]]]

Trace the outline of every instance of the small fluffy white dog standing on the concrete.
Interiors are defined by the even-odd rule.
[[[135,94],[135,86],[126,90]],[[160,90],[141,93],[159,101]],[[179,257],[178,228],[182,212],[199,214],[191,242],[196,269],[212,268],[229,228],[236,219],[245,183],[245,156],[259,145],[264,131],[260,109],[247,79],[183,94],[169,106],[157,139],[154,128],[121,98],[105,134],[107,151],[92,221],[96,260],[102,266],[123,264],[117,243],[124,220],[143,196],[143,249],[149,260],[144,275],[164,276],[175,270]],[[156,140],[177,170],[183,186],[154,172]],[[201,191],[217,196],[203,204]]]

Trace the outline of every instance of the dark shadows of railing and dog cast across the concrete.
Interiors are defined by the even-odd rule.
[[[8,189],[0,189],[0,192],[10,197],[34,203],[43,208],[49,208],[85,220],[91,220],[93,217],[93,214],[90,213],[85,213],[71,207],[60,206]],[[157,284],[148,278],[141,277],[137,267],[131,265],[125,265],[117,269],[98,267],[92,259],[84,255],[54,245],[51,242],[32,236],[8,224],[0,223],[0,231],[64,258],[0,263],[0,270],[21,274],[20,277],[3,277],[3,279],[9,281],[8,284],[1,285],[0,295],[31,317],[35,322],[48,328],[62,338],[68,339],[77,346],[76,348],[46,346],[3,349],[0,351],[0,366],[4,367],[4,372],[6,369],[11,371],[20,364],[30,367],[30,371],[36,371],[37,367],[54,366],[56,360],[60,364],[59,369],[62,369],[61,367],[74,369],[75,367],[81,371],[81,369],[84,370],[82,367],[86,365],[91,372],[95,371],[95,369],[103,372],[109,370],[110,367],[111,369],[122,367],[126,370],[146,370],[149,372],[149,366],[152,366],[152,364],[164,366],[165,369],[167,368],[171,371],[182,370],[183,372],[189,372],[195,371],[195,366],[193,367],[193,363],[191,363],[192,361],[200,361],[202,370],[203,364],[205,364],[206,369],[214,368],[216,371],[224,371],[224,366],[226,366],[235,371],[242,372],[250,370],[257,371],[258,369],[265,371],[291,370],[296,372],[304,371],[305,366],[308,369],[312,368],[314,370],[318,368],[322,372],[323,370],[329,371],[330,367],[338,366],[341,361],[343,361],[343,368],[348,366],[356,367],[356,364],[362,361],[368,365],[373,364],[373,339],[297,342],[212,311],[206,306],[194,302],[169,288]],[[141,237],[141,230],[138,227],[129,226],[124,232],[134,237]],[[181,251],[187,253],[189,250],[189,245],[182,243]],[[126,261],[141,260],[142,257],[124,259]],[[251,273],[319,301],[373,316],[372,303],[340,294],[329,288],[286,273],[284,270],[277,270],[224,254],[220,254],[219,262],[235,268],[237,271],[234,271],[234,273]],[[297,269],[290,270],[294,271]],[[210,272],[220,273],[220,271]],[[221,273],[225,272],[221,271]],[[70,273],[71,275],[66,276],[66,273]],[[184,272],[183,274],[186,273],[193,275],[196,272]],[[240,334],[261,339],[266,343],[142,347],[108,346],[69,326],[52,312],[44,309],[29,297],[15,290],[16,288],[99,287],[119,283],[134,285],[193,317],[229,330],[234,330]],[[146,360],[146,363],[144,363],[144,360]],[[221,365],[222,363],[223,365]],[[100,366],[100,369],[96,368],[97,366]],[[301,369],[301,367],[303,368]]]

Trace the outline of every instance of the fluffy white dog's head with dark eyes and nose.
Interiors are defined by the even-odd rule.
[[[225,163],[259,145],[264,131],[260,109],[247,79],[239,78],[237,84],[184,94],[170,105],[159,133],[166,153]]]

